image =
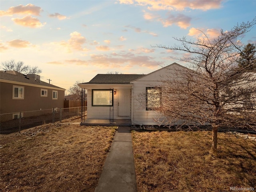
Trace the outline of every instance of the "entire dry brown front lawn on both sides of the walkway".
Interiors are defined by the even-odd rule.
[[[0,135],[0,191],[93,192],[116,127],[47,124]],[[256,190],[256,142],[205,131],[133,131],[138,192]],[[246,191],[246,190],[245,190]]]

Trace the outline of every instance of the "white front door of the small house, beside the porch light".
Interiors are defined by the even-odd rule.
[[[130,107],[130,89],[118,89],[118,108],[117,115],[118,116],[126,116],[130,117],[131,115],[131,107]]]

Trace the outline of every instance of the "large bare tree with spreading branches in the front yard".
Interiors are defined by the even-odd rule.
[[[212,150],[217,151],[221,126],[246,126],[256,129],[256,75],[238,67],[242,44],[238,37],[251,30],[251,22],[237,24],[230,31],[210,40],[207,34],[196,41],[174,38],[181,45],[155,47],[183,51],[191,57],[179,60],[190,69],[174,70],[158,87],[161,105],[156,108],[169,124],[211,125]]]

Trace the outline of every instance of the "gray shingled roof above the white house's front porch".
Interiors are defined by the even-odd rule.
[[[98,74],[92,80],[84,84],[129,84],[143,74]]]

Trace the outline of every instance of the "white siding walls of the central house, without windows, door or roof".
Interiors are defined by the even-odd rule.
[[[154,110],[146,110],[146,87],[154,87],[160,85],[162,80],[166,78],[173,78],[176,76],[175,70],[179,68],[184,70],[183,66],[180,66],[176,63],[171,64],[165,68],[156,70],[146,76],[138,78],[126,85],[116,85],[116,84],[81,84],[81,88],[86,88],[88,90],[88,100],[87,100],[87,118],[88,119],[108,119],[110,114],[109,106],[92,106],[92,89],[131,89],[131,99],[130,99],[130,117],[118,117],[118,92],[117,95],[114,95],[114,119],[126,119],[131,118],[133,124],[144,124],[144,125],[158,125],[159,122],[156,122],[156,119],[160,118],[164,120],[164,117],[161,114],[158,114]]]

